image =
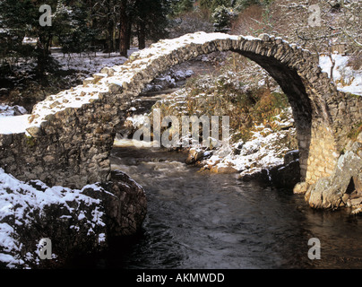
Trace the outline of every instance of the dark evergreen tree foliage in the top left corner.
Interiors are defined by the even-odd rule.
[[[90,46],[91,32],[87,29],[87,8],[84,1],[48,0],[51,7],[50,19],[47,25],[41,25],[43,13],[39,12],[42,0],[3,0],[0,2],[0,17],[3,30],[13,40],[11,50],[7,53],[18,53],[19,56],[29,54],[29,49],[24,49],[22,39],[31,37],[37,39],[37,45],[32,48],[32,56],[37,58],[37,72],[44,74],[50,65],[50,47],[56,36],[66,48],[77,47],[81,50]],[[72,4],[72,5],[70,5]],[[50,11],[49,11],[50,13]]]

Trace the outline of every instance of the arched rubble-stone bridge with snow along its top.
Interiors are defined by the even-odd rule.
[[[145,84],[172,65],[215,51],[248,57],[279,83],[297,126],[301,181],[330,176],[349,131],[362,121],[362,97],[338,91],[308,50],[283,39],[204,32],[160,40],[125,65],[103,68],[82,86],[39,102],[24,133],[0,135],[0,167],[51,186],[108,181],[116,128]]]

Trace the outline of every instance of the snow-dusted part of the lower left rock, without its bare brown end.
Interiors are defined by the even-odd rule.
[[[0,169],[0,267],[41,264],[39,241],[50,237],[52,230],[74,241],[79,240],[79,234],[86,234],[89,241],[101,246],[106,239],[104,213],[99,199],[83,194],[87,188],[106,192],[97,185],[75,190],[47,187],[39,180],[24,183]],[[69,239],[62,239],[62,243]],[[62,243],[56,243],[52,254],[55,260],[64,256]]]

